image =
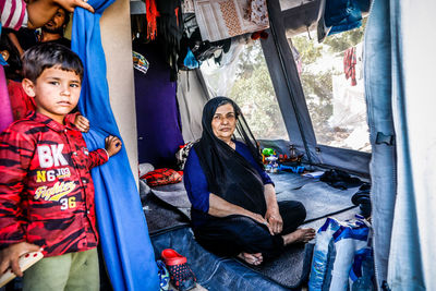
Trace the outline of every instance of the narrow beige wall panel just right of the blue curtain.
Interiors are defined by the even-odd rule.
[[[130,2],[118,0],[104,12],[101,43],[107,63],[109,98],[120,129],[129,162],[137,182],[137,137],[133,86]],[[93,76],[99,77],[99,76]],[[93,124],[90,124],[93,126]]]

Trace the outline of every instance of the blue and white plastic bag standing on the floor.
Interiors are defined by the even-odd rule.
[[[367,264],[372,259],[368,241],[370,226],[362,217],[349,221],[327,218],[316,234],[308,290],[372,290],[358,288],[370,288],[374,277]]]

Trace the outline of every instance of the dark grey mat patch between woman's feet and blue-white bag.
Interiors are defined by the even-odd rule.
[[[313,250],[312,243],[289,245],[279,258],[262,266],[243,264],[286,288],[298,288],[308,279]]]

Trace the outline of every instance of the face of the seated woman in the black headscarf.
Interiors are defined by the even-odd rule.
[[[221,105],[211,119],[211,130],[215,136],[228,143],[237,128],[237,116],[231,104]]]

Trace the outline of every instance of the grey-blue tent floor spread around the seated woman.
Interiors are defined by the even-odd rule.
[[[278,201],[295,199],[306,207],[302,227],[319,229],[327,216],[339,220],[352,219],[360,213],[351,197],[359,187],[338,190],[319,181],[295,173],[270,174]],[[187,257],[197,282],[207,290],[289,290],[306,287],[314,241],[289,247],[282,256],[263,268],[244,265],[238,259],[218,257],[195,242],[190,228],[190,210],[183,183],[152,189],[142,194],[145,216],[156,259],[170,247]],[[205,267],[208,266],[208,267]],[[289,269],[288,266],[293,266]],[[296,266],[296,267],[295,267]],[[227,278],[226,281],[222,281]],[[228,282],[228,281],[232,282]]]

